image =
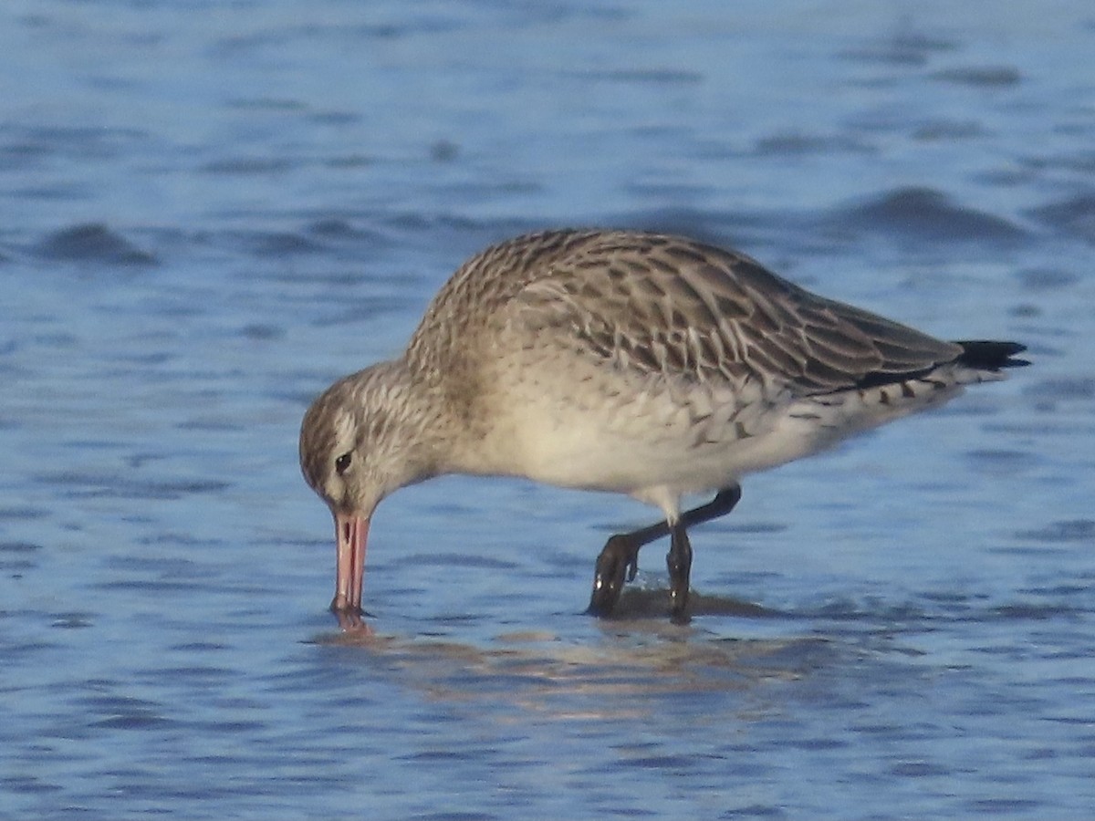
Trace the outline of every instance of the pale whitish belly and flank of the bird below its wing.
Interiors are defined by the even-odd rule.
[[[956,383],[910,385],[904,393],[890,385],[799,400],[710,386],[676,395],[639,386],[626,401],[593,391],[557,401],[541,393],[509,403],[505,423],[484,442],[483,472],[627,494],[673,514],[681,495],[728,487],[960,392]]]

